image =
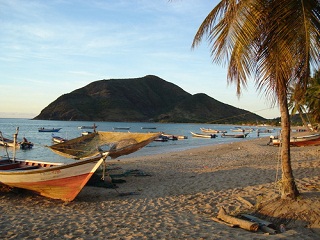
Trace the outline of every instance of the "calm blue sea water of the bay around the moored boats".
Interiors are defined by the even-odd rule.
[[[230,142],[246,141],[253,138],[257,138],[258,127],[241,126],[243,128],[253,128],[255,131],[250,132],[247,138],[222,138],[220,134],[217,134],[217,138],[195,138],[192,137],[190,131],[200,133],[200,128],[212,128],[217,130],[228,131],[232,133],[231,129],[234,129],[235,125],[223,125],[223,124],[189,124],[189,123],[143,123],[143,122],[86,122],[86,121],[48,121],[48,120],[30,120],[30,119],[18,119],[18,118],[0,118],[0,131],[3,137],[13,139],[13,134],[18,130],[18,141],[21,141],[23,137],[26,137],[28,141],[34,144],[32,149],[21,150],[13,148],[4,148],[0,146],[0,156],[6,155],[7,152],[10,156],[16,156],[19,159],[33,159],[49,162],[69,162],[73,161],[64,157],[61,157],[53,153],[47,146],[53,144],[52,134],[72,139],[81,136],[82,131],[79,126],[92,126],[96,124],[98,131],[128,131],[128,130],[114,130],[113,128],[130,127],[130,132],[164,132],[172,135],[187,136],[187,139],[167,141],[167,142],[152,142],[144,148],[138,150],[135,153],[131,153],[126,156],[121,156],[119,159],[128,157],[139,157],[145,155],[161,154],[167,152],[183,151],[187,149],[197,148],[201,146],[209,146]],[[62,128],[57,133],[51,132],[38,132],[38,128]],[[156,129],[142,129],[142,128],[156,128]],[[88,130],[90,131],[90,130]],[[260,133],[259,137],[267,137],[274,133]]]

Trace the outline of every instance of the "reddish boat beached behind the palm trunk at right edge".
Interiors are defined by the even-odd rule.
[[[272,145],[279,146],[281,144],[281,139],[273,138]],[[302,146],[320,146],[320,134],[310,134],[299,137],[290,138],[290,145],[295,147]]]

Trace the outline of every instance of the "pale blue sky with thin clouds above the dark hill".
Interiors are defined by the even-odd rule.
[[[156,75],[272,119],[249,80],[240,98],[210,45],[191,44],[218,0],[0,0],[0,118],[33,118],[101,79]]]

